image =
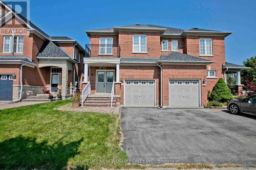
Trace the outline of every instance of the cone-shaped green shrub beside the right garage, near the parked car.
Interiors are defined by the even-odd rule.
[[[212,101],[218,102],[227,102],[233,99],[231,90],[227,87],[226,83],[222,78],[214,86],[214,89],[211,92]]]

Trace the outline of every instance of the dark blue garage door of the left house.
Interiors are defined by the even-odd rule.
[[[0,76],[0,101],[12,101],[13,77],[10,75]]]

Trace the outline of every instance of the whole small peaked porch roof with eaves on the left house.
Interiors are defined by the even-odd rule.
[[[49,41],[47,45],[42,45],[42,49],[39,51],[37,58],[40,59],[70,59],[73,60],[72,57],[63,51],[59,46],[57,46],[52,41]],[[73,60],[74,61],[74,60]]]

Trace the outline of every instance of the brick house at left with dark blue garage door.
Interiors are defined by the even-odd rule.
[[[22,99],[44,89],[55,93],[57,87],[68,98],[75,82],[76,89],[80,88],[84,49],[76,40],[47,35],[2,1],[0,10],[1,101],[18,100],[21,87]]]

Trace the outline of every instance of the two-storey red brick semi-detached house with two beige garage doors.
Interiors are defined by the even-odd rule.
[[[124,106],[206,106],[219,78],[236,71],[240,86],[246,68],[225,62],[231,32],[132,25],[86,33],[83,87],[90,82],[91,96],[100,96],[114,85]]]

